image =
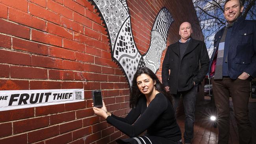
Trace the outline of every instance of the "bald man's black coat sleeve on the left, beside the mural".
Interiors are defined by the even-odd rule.
[[[170,69],[170,49],[167,48],[165,52],[165,58],[163,59],[162,63],[162,83],[165,86],[169,86],[169,69]]]

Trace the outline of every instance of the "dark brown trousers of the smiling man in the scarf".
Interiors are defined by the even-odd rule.
[[[218,111],[219,142],[228,144],[229,138],[229,96],[232,97],[234,113],[239,132],[239,144],[251,143],[252,127],[249,121],[248,103],[250,96],[249,79],[212,78],[213,94]]]

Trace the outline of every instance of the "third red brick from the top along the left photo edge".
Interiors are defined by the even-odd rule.
[[[0,32],[14,35],[16,37],[22,37],[25,39],[30,38],[30,29],[24,26],[13,24],[11,22],[7,22],[5,20],[0,19]]]

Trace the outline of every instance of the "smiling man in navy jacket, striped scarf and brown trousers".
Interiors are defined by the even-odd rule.
[[[256,77],[256,21],[245,20],[242,12],[241,0],[226,0],[226,26],[214,38],[209,74],[218,111],[218,144],[228,144],[229,96],[234,104],[239,143],[252,143],[248,102],[250,81]]]

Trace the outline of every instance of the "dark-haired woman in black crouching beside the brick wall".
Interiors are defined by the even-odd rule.
[[[131,137],[117,140],[120,144],[182,144],[171,95],[149,68],[140,68],[134,74],[130,108],[125,118],[109,113],[104,102],[101,109],[93,107],[93,111]],[[145,130],[145,136],[137,137]]]

